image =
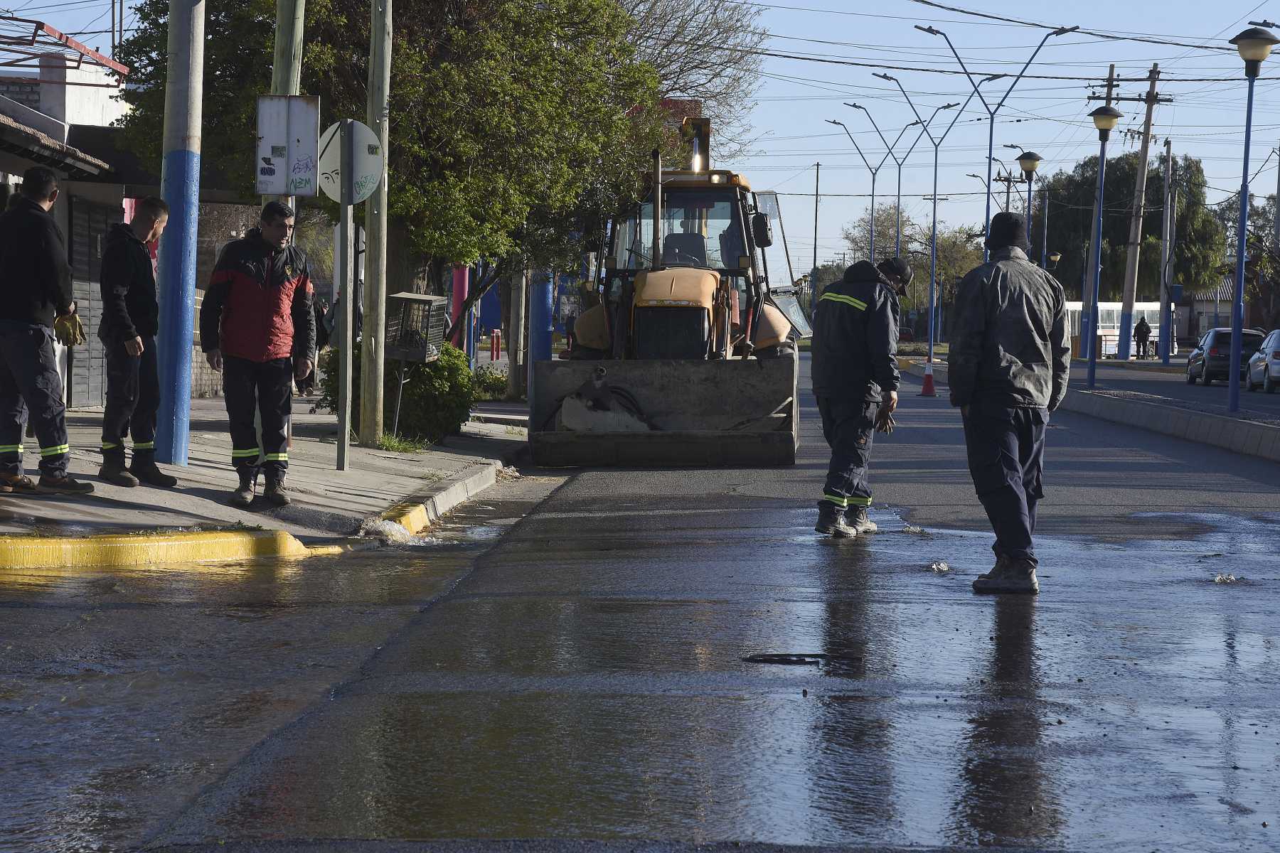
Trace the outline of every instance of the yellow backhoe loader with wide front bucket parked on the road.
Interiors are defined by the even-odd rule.
[[[750,184],[707,168],[705,119],[684,127],[689,168],[664,173],[654,152],[644,200],[609,225],[599,304],[532,364],[539,466],[795,463],[809,324],[790,281],[771,288]]]

